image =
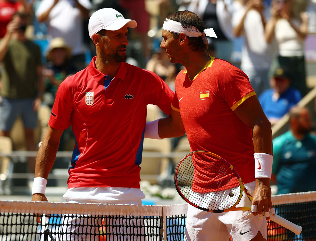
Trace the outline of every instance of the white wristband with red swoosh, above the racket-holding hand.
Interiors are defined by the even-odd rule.
[[[254,153],[255,158],[255,178],[271,178],[273,156],[266,153]]]

